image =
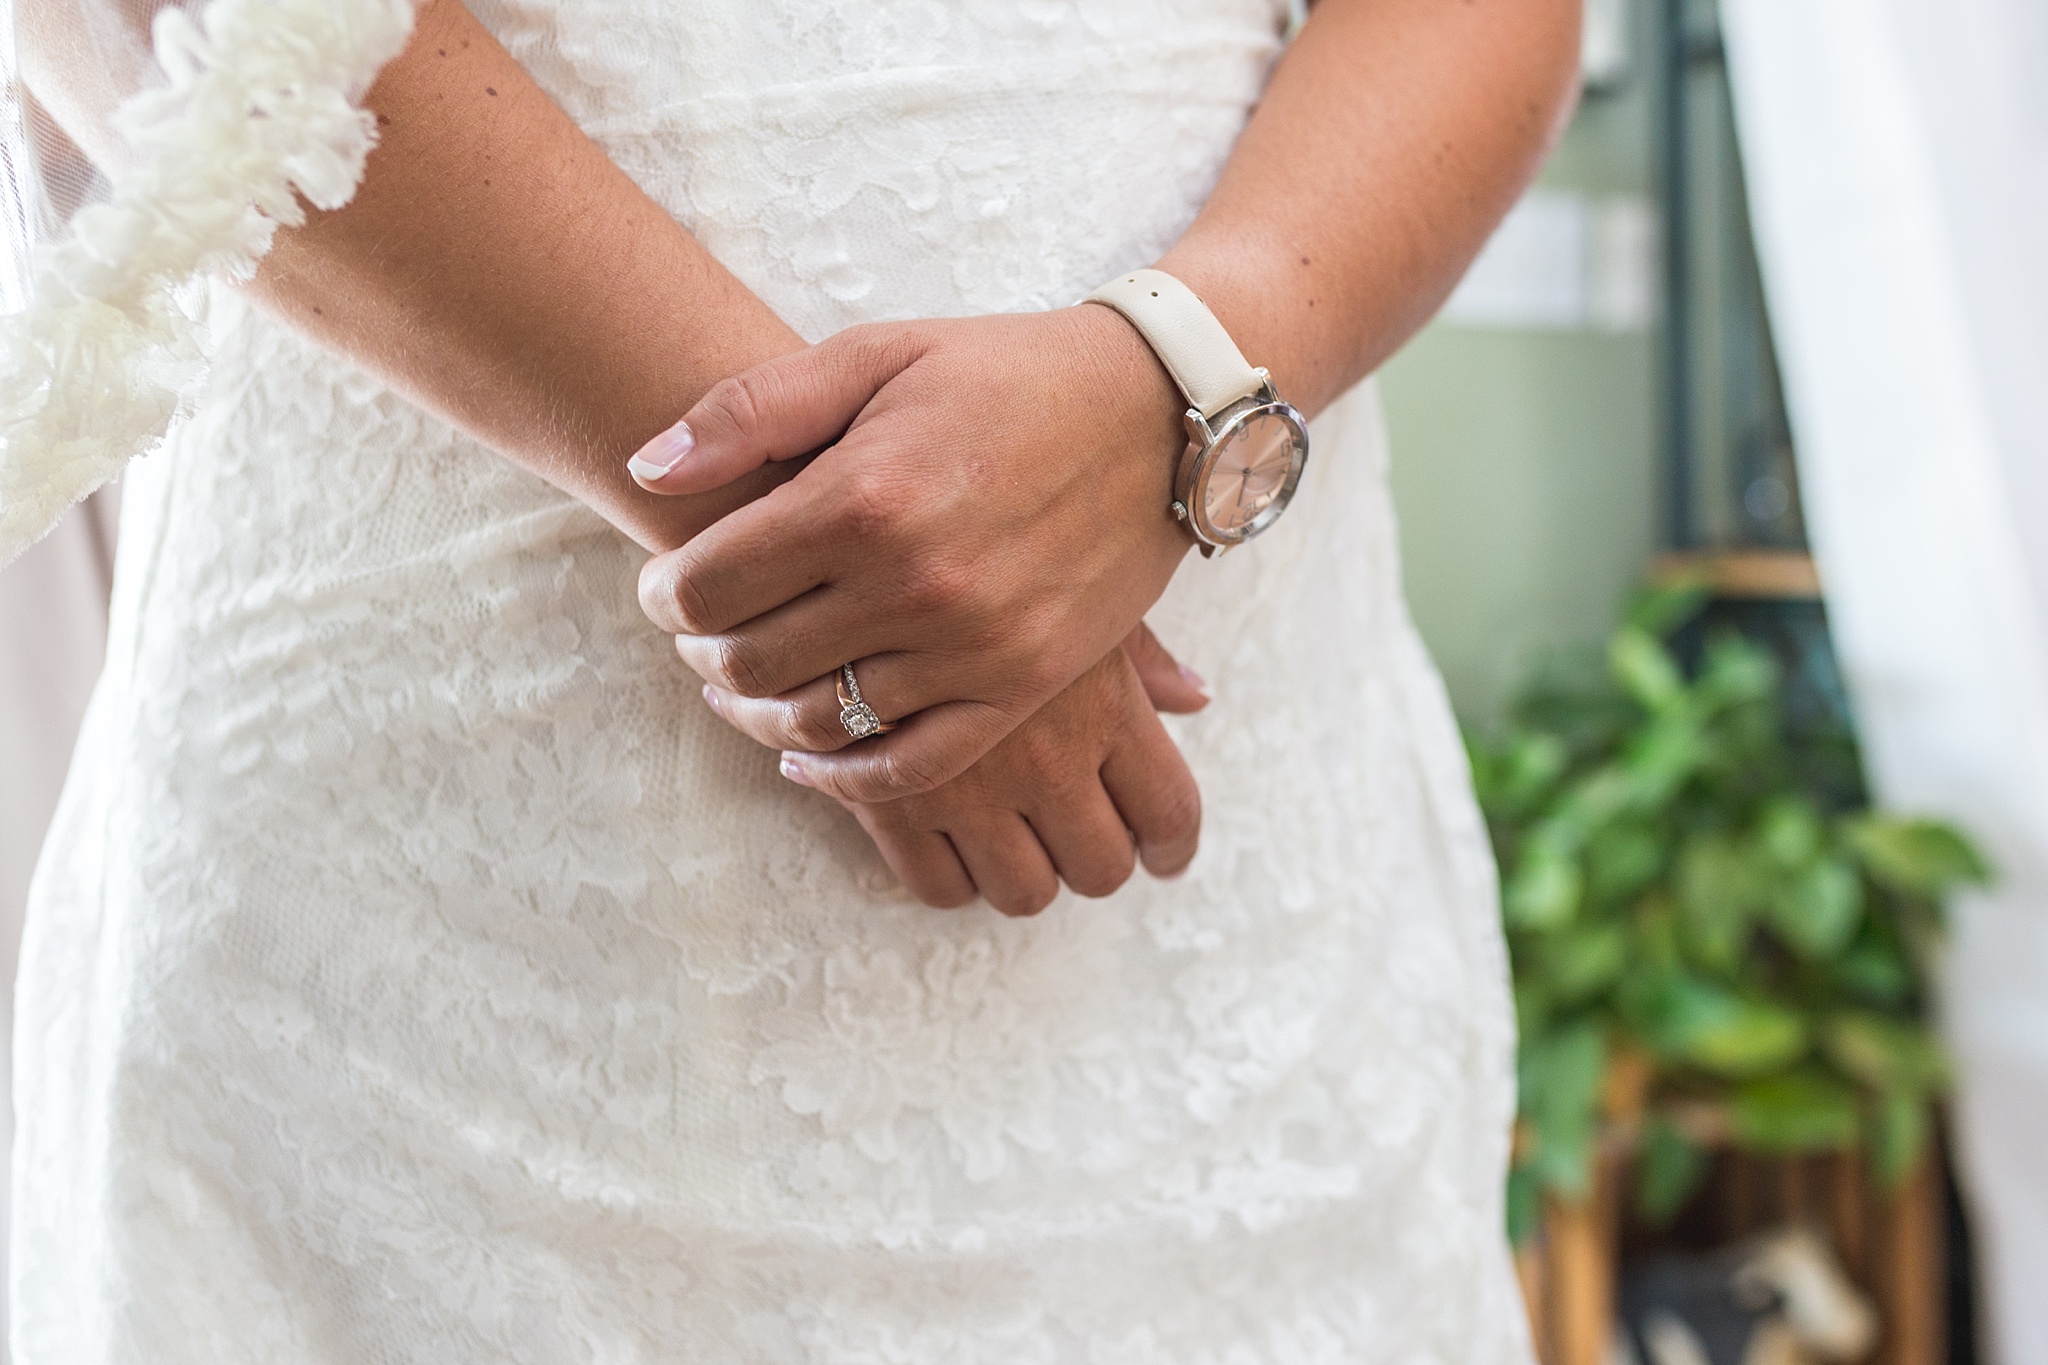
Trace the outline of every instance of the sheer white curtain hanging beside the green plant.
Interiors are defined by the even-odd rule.
[[[2048,1365],[2048,4],[1722,0],[1800,485],[1878,796],[1997,866],[1944,1025],[1997,1365]]]

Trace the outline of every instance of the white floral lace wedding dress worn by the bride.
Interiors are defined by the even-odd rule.
[[[1155,260],[1272,0],[471,0],[805,336]],[[1528,1359],[1493,870],[1376,397],[1151,622],[1178,882],[911,902],[594,514],[231,293],[31,896],[18,1365]],[[1057,413],[1049,413],[1057,434]]]

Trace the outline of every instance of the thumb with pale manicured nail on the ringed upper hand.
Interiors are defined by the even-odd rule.
[[[836,442],[874,391],[922,354],[909,332],[856,327],[721,379],[627,460],[651,493],[702,493],[768,460]]]

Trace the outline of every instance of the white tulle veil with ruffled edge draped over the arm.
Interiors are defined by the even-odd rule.
[[[205,379],[201,291],[348,203],[414,0],[0,0],[0,565]]]

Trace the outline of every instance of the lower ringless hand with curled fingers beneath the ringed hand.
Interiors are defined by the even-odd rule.
[[[780,716],[762,702],[711,688],[707,696],[739,729],[778,743]],[[1106,896],[1135,860],[1176,876],[1194,857],[1202,798],[1153,706],[1186,712],[1204,702],[1141,626],[952,782],[844,804],[926,905],[950,909],[979,892],[1004,915],[1036,915],[1061,882]]]

